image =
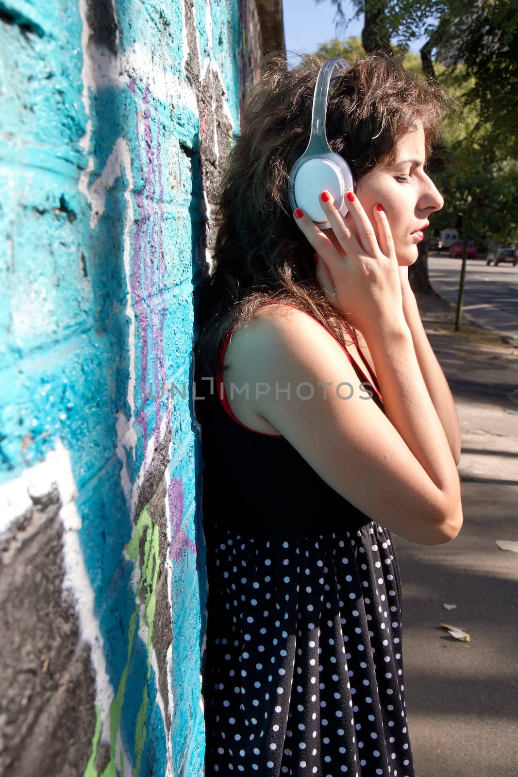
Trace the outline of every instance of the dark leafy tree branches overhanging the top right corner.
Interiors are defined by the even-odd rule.
[[[351,19],[346,18],[342,0],[332,4],[338,30]],[[353,0],[353,6],[353,18],[365,14],[365,51],[384,48],[392,39],[408,47],[424,33],[423,73],[435,77],[435,61],[446,66],[450,79],[472,78],[463,105],[475,108],[498,144],[506,144],[509,156],[518,156],[516,0]]]

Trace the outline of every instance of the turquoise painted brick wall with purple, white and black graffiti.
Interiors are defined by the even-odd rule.
[[[5,777],[203,774],[193,300],[266,43],[280,2],[0,0]]]

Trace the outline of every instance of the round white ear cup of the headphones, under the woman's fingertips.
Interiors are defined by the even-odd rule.
[[[353,189],[354,181],[349,165],[338,154],[322,154],[304,160],[294,178],[294,199],[315,224],[330,227],[320,204],[320,193],[328,190],[342,216],[345,216],[346,192]]]

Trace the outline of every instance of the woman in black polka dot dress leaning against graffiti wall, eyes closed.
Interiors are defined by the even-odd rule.
[[[196,347],[205,775],[412,777],[391,532],[434,545],[462,524],[457,414],[408,285],[443,205],[425,172],[443,96],[385,54],[345,72],[326,127],[356,189],[345,218],[322,192],[321,231],[287,181],[322,61],[267,64]]]

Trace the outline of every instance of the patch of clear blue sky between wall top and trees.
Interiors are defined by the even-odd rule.
[[[331,0],[323,0],[316,4],[315,0],[282,0],[284,35],[286,37],[287,59],[290,65],[296,64],[297,57],[290,54],[297,51],[305,54],[308,51],[316,51],[320,44],[326,43],[332,38],[346,40],[356,35],[361,37],[363,28],[363,14],[360,19],[354,19],[346,30],[335,30],[335,6]],[[343,4],[346,16],[353,16],[354,9],[350,0]],[[410,47],[410,51],[419,51],[421,41],[416,40]]]

